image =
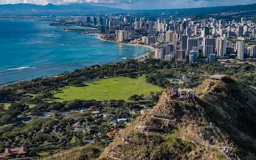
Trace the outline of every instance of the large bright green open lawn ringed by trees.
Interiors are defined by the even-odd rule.
[[[145,77],[129,78],[115,77],[100,79],[93,83],[86,83],[85,87],[66,86],[61,92],[54,92],[54,101],[82,100],[127,100],[133,94],[149,95],[150,91],[159,92],[163,89],[148,84]]]

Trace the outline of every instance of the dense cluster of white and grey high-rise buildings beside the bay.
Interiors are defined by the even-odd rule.
[[[236,57],[252,60],[256,56],[255,23],[247,18],[225,21],[215,18],[100,17],[102,38],[156,47],[158,59],[196,62],[199,55],[205,62]]]

